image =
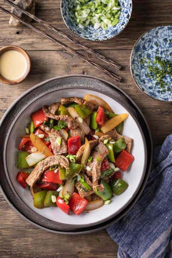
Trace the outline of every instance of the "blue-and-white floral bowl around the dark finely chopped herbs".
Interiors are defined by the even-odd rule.
[[[155,56],[172,60],[172,26],[160,26],[145,32],[137,40],[130,57],[131,74],[141,91],[153,99],[172,101],[172,77],[164,77],[163,81],[168,85],[162,91],[156,80],[147,75],[147,60],[153,61]]]

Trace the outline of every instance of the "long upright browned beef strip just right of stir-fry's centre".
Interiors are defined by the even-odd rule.
[[[97,188],[98,191],[103,191],[103,185],[98,184],[98,180],[101,175],[101,162],[103,159],[109,154],[109,150],[103,144],[103,142],[99,142],[94,148],[94,150],[91,153],[91,156],[93,157],[92,161],[87,162],[86,166],[89,166],[91,168],[91,175],[92,175],[92,183],[93,183],[93,190],[95,191],[95,188]],[[97,158],[100,159],[100,161],[97,160]],[[88,174],[88,173],[87,173]]]

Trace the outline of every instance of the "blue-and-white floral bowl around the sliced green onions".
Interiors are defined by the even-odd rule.
[[[77,36],[91,41],[103,41],[118,35],[127,26],[132,13],[132,0],[119,0],[121,14],[119,22],[107,30],[102,28],[94,29],[94,26],[88,25],[84,29],[79,28],[75,22],[75,14],[71,11],[74,0],[61,0],[61,13],[66,26]]]

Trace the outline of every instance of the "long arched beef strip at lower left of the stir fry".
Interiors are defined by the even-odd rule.
[[[41,175],[44,173],[44,171],[54,165],[60,165],[65,169],[69,169],[69,160],[62,155],[54,155],[45,158],[44,160],[40,161],[32,170],[26,179],[26,183],[33,188],[34,184],[41,178]]]

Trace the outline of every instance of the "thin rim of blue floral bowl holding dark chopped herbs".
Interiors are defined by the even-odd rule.
[[[147,33],[147,32],[150,32],[151,30],[155,29],[155,28],[159,28],[159,27],[165,27],[165,26],[172,26],[172,24],[165,24],[165,25],[158,25],[156,27],[153,27],[151,28],[150,30],[147,30],[146,32],[144,32],[139,38],[138,40],[135,42],[133,48],[132,48],[132,51],[131,51],[131,54],[130,54],[130,73],[131,73],[131,76],[132,76],[132,79],[134,81],[134,83],[136,84],[136,86],[140,89],[140,91],[142,91],[142,93],[144,93],[144,95],[146,95],[147,97],[150,97],[151,99],[154,99],[156,101],[161,101],[161,102],[167,102],[167,103],[171,103],[172,100],[170,101],[166,101],[166,100],[161,100],[161,99],[155,99],[153,97],[151,97],[150,95],[148,95],[146,92],[144,92],[141,87],[139,86],[139,84],[136,82],[136,80],[134,79],[134,75],[133,75],[133,72],[132,72],[132,54],[134,52],[134,49],[136,47],[136,44],[139,42],[139,40]]]

